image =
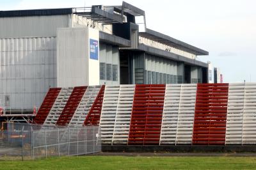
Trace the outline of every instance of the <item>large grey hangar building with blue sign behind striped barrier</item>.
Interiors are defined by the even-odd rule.
[[[148,29],[145,12],[125,2],[1,11],[0,106],[33,111],[56,87],[208,82],[196,60],[208,54]]]

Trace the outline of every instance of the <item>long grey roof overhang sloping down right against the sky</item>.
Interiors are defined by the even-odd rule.
[[[171,47],[175,47],[177,49],[190,52],[197,56],[209,55],[209,52],[207,52],[206,50],[199,49],[197,47],[194,47],[193,45],[189,45],[188,43],[181,42],[180,40],[172,38],[168,35],[164,35],[152,29],[147,28],[145,32],[140,32],[139,35],[145,38],[148,38],[150,40],[154,40],[156,42],[160,42],[166,45],[170,45]]]

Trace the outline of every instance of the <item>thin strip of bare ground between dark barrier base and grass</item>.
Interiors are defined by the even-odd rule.
[[[94,155],[127,157],[256,157],[256,153],[166,153],[166,152],[102,152]]]

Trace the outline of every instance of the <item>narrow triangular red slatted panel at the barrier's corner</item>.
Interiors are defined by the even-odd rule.
[[[84,120],[84,125],[99,125],[100,114],[102,109],[102,102],[104,98],[105,85],[102,85],[100,91],[92,104],[92,108],[88,112],[86,119]]]

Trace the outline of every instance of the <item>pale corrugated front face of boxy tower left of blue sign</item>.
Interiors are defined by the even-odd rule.
[[[88,28],[58,29],[57,86],[89,84]]]

